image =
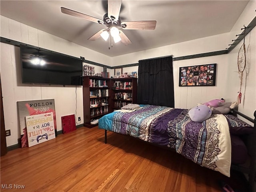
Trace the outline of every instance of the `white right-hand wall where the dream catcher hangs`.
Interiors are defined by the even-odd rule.
[[[236,39],[236,34],[241,34],[241,28],[248,26],[256,16],[256,1],[250,1],[242,12],[230,32],[230,39]],[[236,100],[240,91],[240,78],[238,76],[238,52],[243,40],[228,54],[228,72],[226,83],[226,98]],[[242,79],[242,100],[238,110],[251,118],[256,110],[256,27],[245,37],[246,70]],[[247,75],[246,75],[247,72]]]

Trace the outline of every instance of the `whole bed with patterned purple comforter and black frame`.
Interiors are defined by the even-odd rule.
[[[100,118],[98,127],[175,150],[200,166],[230,176],[230,168],[249,174],[254,191],[256,128],[251,119],[233,114],[214,114],[202,123],[193,122],[188,109],[130,104]],[[238,119],[243,116],[254,127]],[[254,112],[254,117],[256,111]],[[253,142],[253,143],[252,143]],[[249,147],[248,147],[249,146]],[[248,167],[241,166],[249,162]]]

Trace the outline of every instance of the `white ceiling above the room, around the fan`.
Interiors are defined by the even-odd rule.
[[[156,20],[155,30],[122,30],[132,44],[102,38],[87,40],[106,28],[101,24],[63,14],[60,7],[103,19],[103,0],[1,0],[0,14],[108,56],[118,56],[230,32],[247,0],[123,0],[121,21]]]

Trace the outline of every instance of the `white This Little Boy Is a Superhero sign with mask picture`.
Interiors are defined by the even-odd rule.
[[[55,138],[53,113],[26,116],[28,146]]]

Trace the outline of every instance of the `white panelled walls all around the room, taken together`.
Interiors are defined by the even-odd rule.
[[[255,17],[255,1],[250,1],[241,14],[238,22],[233,27],[230,33],[219,34],[206,38],[196,39],[179,44],[173,44],[160,48],[144,50],[141,52],[134,52],[110,58],[98,52],[94,52],[82,46],[78,46],[56,36],[52,36],[30,26],[26,26],[19,22],[10,20],[1,16],[1,36],[16,40],[19,42],[28,43],[34,46],[46,48],[56,52],[72,55],[80,58],[86,53],[86,60],[98,62],[108,66],[125,65],[138,63],[138,60],[146,58],[154,58],[160,56],[174,55],[174,57],[186,56],[192,54],[200,54],[205,52],[225,50],[234,35],[243,25],[248,25]],[[254,10],[253,10],[254,8]],[[255,28],[246,36],[246,45],[248,46],[248,67],[250,68],[245,101],[239,106],[242,112],[253,118],[253,112],[256,109],[255,104],[255,72],[256,72],[256,32]],[[230,35],[232,34],[232,35]],[[240,45],[239,45],[240,46]],[[176,108],[192,108],[198,102],[206,102],[215,98],[225,98],[227,101],[234,101],[237,97],[237,90],[239,89],[238,74],[232,71],[237,71],[237,46],[230,54],[219,56],[210,56],[195,58],[189,60],[174,61],[174,94],[175,94],[175,107]],[[20,128],[18,123],[18,114],[16,102],[20,100],[38,100],[54,98],[56,117],[57,117],[57,130],[61,130],[61,116],[75,113],[76,95],[75,88],[62,86],[34,86],[21,84],[20,80],[20,56],[19,48],[1,43],[1,83],[4,105],[4,117],[6,130],[10,129],[12,135],[6,137],[7,146],[17,144],[20,137]],[[216,86],[207,87],[179,87],[179,67],[217,63]],[[92,65],[93,66],[93,65]],[[96,67],[96,66],[95,66]],[[97,66],[97,70],[98,66]],[[138,71],[138,66],[123,68],[123,72]],[[108,69],[110,76],[114,76],[114,70]],[[234,82],[230,82],[234,80]],[[77,116],[83,118],[82,108],[82,87],[77,88]],[[83,119],[82,122],[83,123]]]

